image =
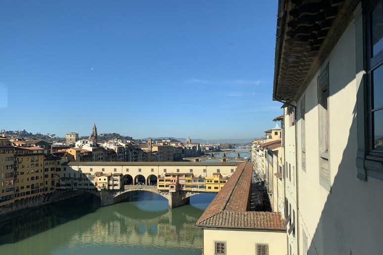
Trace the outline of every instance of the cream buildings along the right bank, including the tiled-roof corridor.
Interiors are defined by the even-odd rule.
[[[275,50],[281,128],[252,148],[273,212],[239,208],[237,170],[197,221],[204,254],[382,254],[383,0],[279,0]]]

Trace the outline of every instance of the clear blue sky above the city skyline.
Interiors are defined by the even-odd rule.
[[[0,2],[0,129],[263,135],[277,0]]]

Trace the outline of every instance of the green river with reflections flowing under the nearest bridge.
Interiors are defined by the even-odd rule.
[[[214,196],[196,195],[172,210],[144,191],[107,207],[77,197],[0,224],[0,254],[200,255],[202,230],[194,223]]]

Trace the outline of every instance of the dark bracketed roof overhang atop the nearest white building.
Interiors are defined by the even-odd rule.
[[[273,100],[297,101],[360,0],[279,0]]]

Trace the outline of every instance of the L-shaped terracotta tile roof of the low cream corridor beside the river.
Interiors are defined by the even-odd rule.
[[[234,227],[285,231],[281,213],[247,212],[253,165],[243,163],[195,223],[199,227]]]

